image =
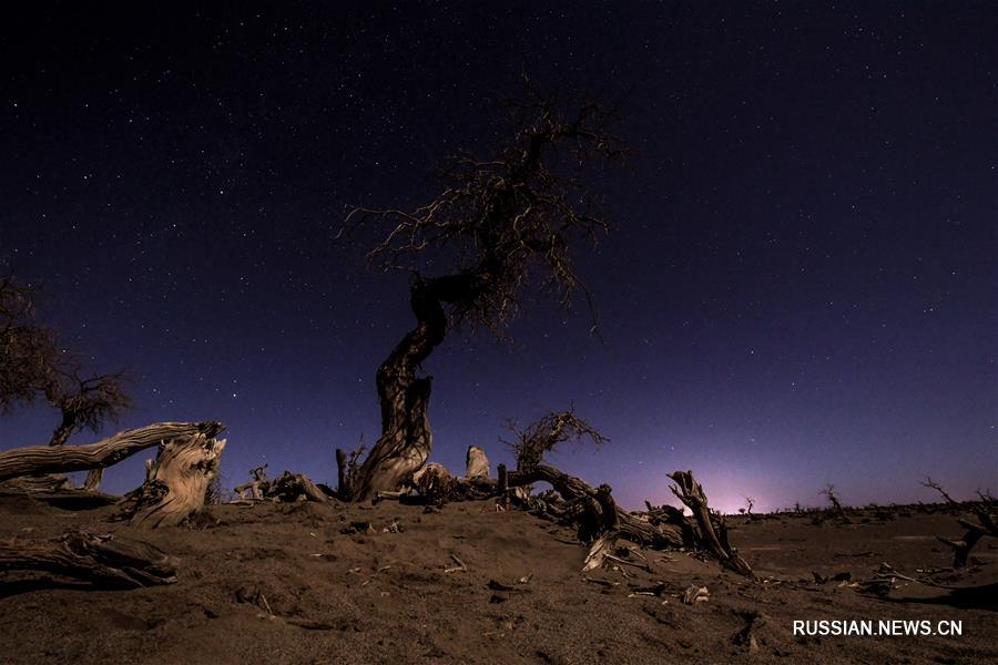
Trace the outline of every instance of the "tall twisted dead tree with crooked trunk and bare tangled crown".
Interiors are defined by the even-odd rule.
[[[566,166],[621,154],[607,132],[609,119],[595,104],[569,113],[534,96],[512,106],[509,144],[487,160],[454,157],[442,173],[442,192],[427,205],[411,212],[357,208],[348,216],[347,228],[390,221],[368,259],[413,275],[409,303],[416,317],[378,368],[381,434],[348,481],[355,499],[398,490],[426,462],[432,447],[431,378],[418,370],[449,327],[481,326],[501,336],[522,287],[538,276],[564,305],[578,289],[588,297],[569,246],[577,236],[594,241],[608,225],[578,186],[582,174],[567,173]],[[440,257],[450,269],[436,276],[420,272]]]

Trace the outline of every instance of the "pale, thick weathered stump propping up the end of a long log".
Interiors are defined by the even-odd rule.
[[[162,443],[146,462],[130,521],[141,526],[175,526],[201,510],[208,484],[218,474],[225,439],[196,433]]]

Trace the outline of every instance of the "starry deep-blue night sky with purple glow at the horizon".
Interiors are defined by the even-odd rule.
[[[221,420],[227,487],[335,483],[414,321],[340,222],[487,156],[526,73],[617,104],[634,150],[593,183],[615,231],[574,254],[603,342],[543,299],[512,345],[448,336],[432,460],[510,462],[505,421],[573,403],[611,442],[551,461],[632,508],[676,469],[725,510],[998,490],[994,2],[145,4],[0,19],[0,262],[133,375],[105,433]],[[57,420],[4,416],[0,448]]]

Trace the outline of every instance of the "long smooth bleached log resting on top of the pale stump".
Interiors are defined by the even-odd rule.
[[[157,422],[119,432],[89,446],[35,446],[0,452],[0,481],[40,473],[68,473],[110,467],[163,441],[214,437],[218,422]]]

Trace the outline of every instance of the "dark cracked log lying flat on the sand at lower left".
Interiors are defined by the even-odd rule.
[[[176,560],[154,545],[86,531],[50,541],[0,541],[0,571],[54,573],[118,589],[176,582]]]

